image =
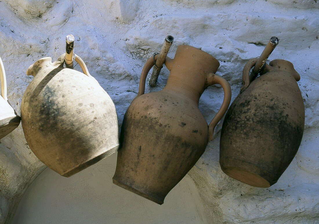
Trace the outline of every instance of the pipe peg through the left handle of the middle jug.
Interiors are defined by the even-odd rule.
[[[155,65],[153,67],[152,76],[151,76],[151,79],[149,81],[149,84],[152,87],[154,87],[156,82],[157,82],[157,79],[159,77],[159,72],[163,68],[165,58],[168,54],[170,47],[172,46],[173,41],[174,41],[174,37],[171,35],[168,35],[165,38],[165,41],[164,41],[164,44],[163,44],[161,50],[159,51],[159,54],[158,54],[157,59],[155,61]]]

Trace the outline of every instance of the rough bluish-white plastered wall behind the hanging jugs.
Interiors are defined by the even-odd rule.
[[[120,126],[136,96],[142,66],[159,51],[166,35],[175,38],[170,57],[179,44],[189,44],[217,58],[221,62],[218,74],[231,84],[233,99],[239,93],[245,63],[260,55],[271,36],[278,36],[281,40],[270,59],[294,64],[301,75],[299,86],[306,110],[305,133],[293,162],[268,189],[229,178],[218,163],[219,124],[216,138],[189,176],[197,186],[209,222],[317,223],[318,16],[316,0],[2,0],[0,54],[7,73],[9,102],[19,114],[22,95],[32,80],[25,75],[26,69],[37,59],[56,59],[63,54],[64,38],[70,33],[76,37],[75,52],[113,99]],[[167,77],[164,68],[158,86],[147,86],[146,91],[163,88]],[[204,92],[200,110],[207,121],[222,100],[220,88],[209,87]],[[1,139],[0,161],[0,220],[9,222],[44,165],[28,148],[21,126]],[[42,174],[44,179],[49,172]],[[105,178],[110,177],[106,172]],[[26,198],[23,201],[27,203]]]

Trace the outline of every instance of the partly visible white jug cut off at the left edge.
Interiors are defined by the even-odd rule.
[[[8,103],[7,98],[7,81],[5,78],[4,66],[0,58],[0,82],[1,82],[1,96],[0,97],[0,139],[8,135],[11,131],[16,129],[21,118],[16,114],[13,108]]]

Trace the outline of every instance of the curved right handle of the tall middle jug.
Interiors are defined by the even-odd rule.
[[[209,125],[208,125],[208,141],[211,141],[213,139],[213,136],[214,136],[214,129],[215,129],[216,125],[222,119],[222,117],[224,116],[224,114],[226,113],[226,111],[229,107],[230,100],[232,98],[232,89],[230,88],[230,85],[226,81],[226,79],[224,79],[224,78],[222,78],[214,73],[210,73],[208,75],[208,77],[209,77],[209,79],[207,81],[208,86],[211,86],[214,84],[219,84],[219,85],[221,85],[221,87],[224,90],[224,101],[221,104],[219,111],[217,112],[217,114],[215,115],[213,120],[211,120],[211,123],[209,123]]]

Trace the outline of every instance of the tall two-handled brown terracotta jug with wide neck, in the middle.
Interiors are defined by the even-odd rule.
[[[215,74],[218,60],[200,49],[180,45],[175,58],[165,60],[170,70],[166,87],[144,94],[146,75],[153,65],[150,58],[137,97],[125,113],[113,183],[161,205],[203,154],[229,106],[231,89]],[[213,84],[220,84],[225,95],[208,126],[198,102]]]

